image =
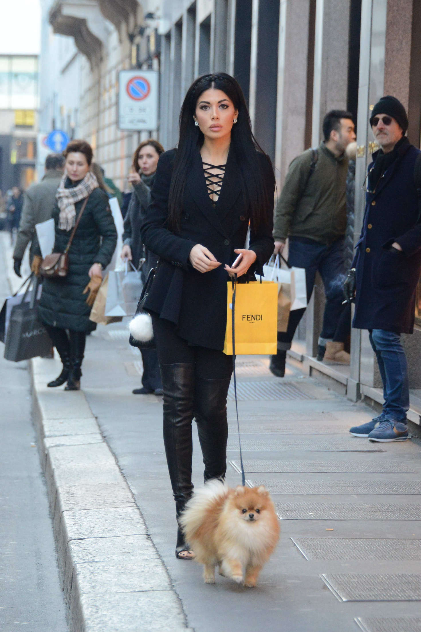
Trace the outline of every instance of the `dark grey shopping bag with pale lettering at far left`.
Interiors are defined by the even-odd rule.
[[[35,277],[33,284],[30,302],[25,301],[24,295],[21,303],[13,307],[10,315],[4,358],[11,360],[11,362],[20,362],[20,360],[47,355],[52,347],[51,339],[44,325],[38,319],[39,301],[36,297],[39,279],[37,277]]]

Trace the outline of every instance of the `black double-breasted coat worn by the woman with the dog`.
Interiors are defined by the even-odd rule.
[[[141,236],[148,250],[160,257],[145,309],[176,325],[176,331],[189,344],[223,349],[227,324],[227,272],[225,264],[237,257],[235,248],[244,248],[250,209],[246,188],[234,150],[230,150],[222,189],[215,207],[206,189],[199,149],[184,187],[181,229],[178,234],[168,226],[168,200],[175,151],[164,152],[158,161],[151,204],[141,225]],[[268,159],[256,152],[256,171],[263,179],[270,208],[262,209],[266,221],[258,229],[251,225],[250,250],[257,255],[250,272],[261,267],[273,253],[273,196],[275,178]],[[195,270],[189,254],[196,244],[206,246],[222,265],[205,272]]]

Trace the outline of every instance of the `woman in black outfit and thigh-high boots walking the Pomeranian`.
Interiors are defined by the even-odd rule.
[[[271,162],[252,136],[239,84],[225,73],[196,80],[182,105],[177,150],[158,161],[141,226],[146,248],[160,257],[145,308],[160,363],[163,435],[177,518],[193,492],[193,417],[205,480],[225,478],[232,373],[232,356],[222,351],[227,281],[235,272],[254,278],[270,258],[274,190]],[[175,555],[193,557],[180,529]]]

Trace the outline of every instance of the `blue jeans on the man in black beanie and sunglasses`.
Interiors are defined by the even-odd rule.
[[[376,353],[383,382],[383,413],[388,419],[406,423],[409,408],[408,365],[400,334],[371,329],[370,343]]]

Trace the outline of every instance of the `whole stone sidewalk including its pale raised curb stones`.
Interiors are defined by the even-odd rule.
[[[71,629],[419,632],[420,441],[371,444],[348,434],[362,403],[268,359],[238,358],[249,484],[273,493],[282,536],[256,589],[204,585],[175,559],[162,402],[133,396],[141,358],[126,327],[88,337],[80,392],[47,389],[59,363],[34,360],[34,418],[54,516]],[[240,483],[233,393],[227,480]],[[194,430],[193,475],[203,465]]]

